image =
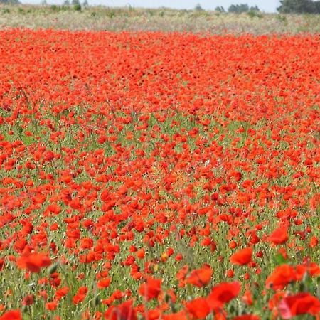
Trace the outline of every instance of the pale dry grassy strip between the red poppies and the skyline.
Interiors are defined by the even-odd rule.
[[[320,15],[220,14],[215,11],[0,5],[0,28],[53,28],[193,33],[319,33]]]

